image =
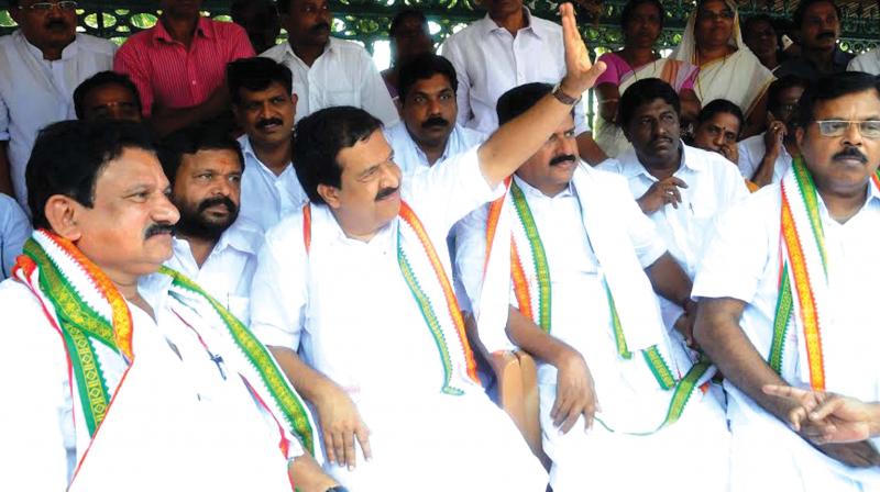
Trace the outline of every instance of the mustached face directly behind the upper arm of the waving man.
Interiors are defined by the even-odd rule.
[[[452,90],[449,79],[441,74],[418,80],[409,89],[403,103],[404,122],[418,144],[446,144],[458,114],[455,91]]]

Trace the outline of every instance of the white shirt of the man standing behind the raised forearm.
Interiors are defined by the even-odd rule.
[[[562,26],[526,9],[528,26],[514,37],[488,14],[449,36],[440,47],[459,79],[459,123],[486,135],[498,127],[495,104],[508,90],[528,82],[559,83],[565,75]],[[590,131],[584,107],[574,110],[578,134]]]

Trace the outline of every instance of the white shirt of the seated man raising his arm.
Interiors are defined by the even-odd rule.
[[[404,175],[403,198],[425,225],[447,276],[449,230],[503,191],[486,185],[476,148],[443,166]],[[301,214],[266,235],[251,290],[253,333],[266,345],[299,349],[355,402],[378,402],[400,388],[437,394],[443,368],[397,262],[399,219],[367,243],[346,237],[327,206],[314,206],[311,221],[308,254]]]

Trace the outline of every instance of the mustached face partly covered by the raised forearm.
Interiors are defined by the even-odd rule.
[[[578,168],[578,141],[574,138],[574,119],[569,115],[557,126],[516,175],[548,197],[562,191]]]

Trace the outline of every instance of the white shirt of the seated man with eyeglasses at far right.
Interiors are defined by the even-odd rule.
[[[829,282],[828,305],[818,308],[833,313],[829,320],[834,329],[826,327],[822,333],[823,356],[826,366],[834,364],[835,373],[843,374],[837,384],[844,384],[835,385],[828,380],[827,391],[873,402],[880,400],[877,365],[880,331],[875,309],[876,279],[880,278],[880,262],[876,260],[880,244],[880,193],[873,187],[869,190],[862,209],[845,224],[828,215],[818,197]],[[770,355],[779,293],[781,208],[780,186],[772,185],[719,216],[692,291],[694,298],[744,301],[747,305],[739,326],[765,360]],[[793,336],[787,338],[782,378],[796,385],[799,365],[806,361],[798,360],[795,343]],[[729,380],[725,381],[725,388],[730,399],[727,413],[734,433],[738,425],[763,424],[756,429],[770,424],[784,425]],[[873,440],[877,445],[880,439]]]

